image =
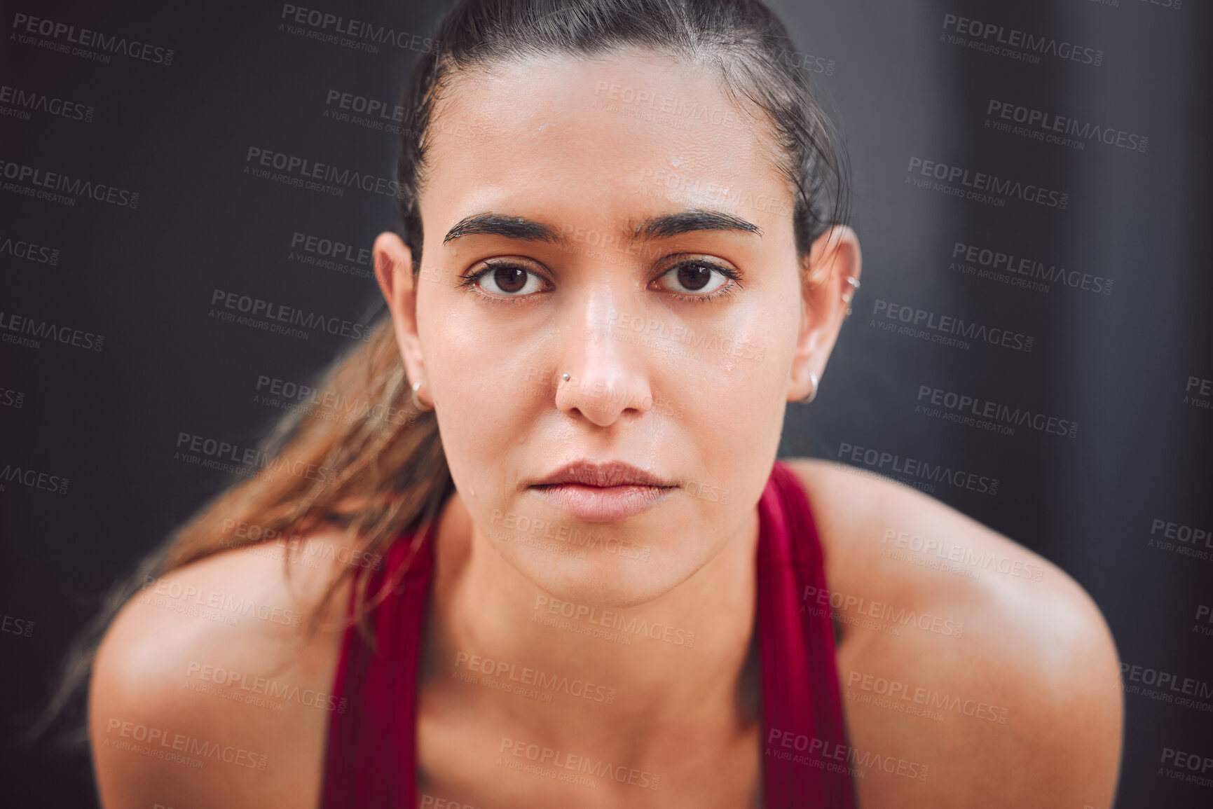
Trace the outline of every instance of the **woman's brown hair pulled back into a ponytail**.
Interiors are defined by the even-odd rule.
[[[753,120],[770,131],[793,188],[799,253],[808,256],[818,237],[847,218],[844,155],[833,147],[830,120],[810,91],[786,28],[758,0],[461,0],[429,41],[433,47],[414,65],[405,89],[409,124],[402,130],[397,170],[414,286],[422,255],[418,196],[427,177],[435,102],[457,73],[529,56],[581,58],[639,46],[708,64],[739,109],[757,107],[763,113]],[[143,559],[127,581],[112,589],[104,609],[76,639],[61,688],[32,735],[45,730],[79,694],[106,628],[153,577],[266,537],[307,534],[321,523],[342,525],[349,547],[360,554],[386,554],[409,534],[420,542],[421,529],[437,519],[454,483],[433,412],[412,404],[389,315],[380,317],[370,340],[340,357],[315,387],[321,404],[290,412],[258,445],[277,469],[315,473],[258,474],[235,482]],[[346,406],[332,406],[334,401]],[[354,418],[346,417],[351,403]],[[233,531],[250,524],[256,537]],[[290,554],[285,564],[289,569]],[[311,631],[319,626],[332,593],[357,569],[336,566],[308,622]],[[354,589],[354,620],[364,632],[365,609],[375,602],[374,596],[368,600],[366,579],[360,576]],[[82,723],[70,740],[86,740]]]

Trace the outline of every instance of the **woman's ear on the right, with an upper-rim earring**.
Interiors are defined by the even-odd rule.
[[[802,268],[801,331],[788,375],[788,401],[799,401],[813,391],[809,374],[819,381],[825,374],[852,296],[859,289],[861,263],[859,237],[845,224],[830,228],[813,243]]]

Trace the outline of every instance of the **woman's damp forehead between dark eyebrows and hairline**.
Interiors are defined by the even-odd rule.
[[[792,194],[761,114],[707,68],[634,51],[460,73],[431,124],[422,206],[611,222],[701,206],[765,227]]]

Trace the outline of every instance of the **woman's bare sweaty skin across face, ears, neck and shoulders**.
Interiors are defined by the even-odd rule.
[[[718,114],[654,119],[626,101],[642,93]],[[482,809],[759,807],[756,503],[787,403],[809,393],[810,372],[824,375],[847,279],[859,278],[858,240],[836,228],[801,263],[768,133],[695,65],[638,52],[520,62],[459,78],[437,120],[416,284],[399,238],[375,245],[409,378],[425,380],[457,488],[437,535],[422,791]],[[688,210],[756,227],[637,233]],[[460,235],[482,213],[563,239]],[[494,286],[491,269],[471,283],[485,261],[505,260],[525,270],[520,294]],[[736,278],[712,270],[707,286],[724,292],[696,300],[678,280],[683,261]],[[677,484],[645,512],[580,524],[648,548],[644,563],[553,554],[502,532],[508,514],[577,525],[530,483],[581,457]],[[862,805],[1106,809],[1122,703],[1115,645],[1090,598],[913,489],[822,461],[792,466],[830,587],[805,606],[833,609],[841,628],[852,747],[898,763],[862,768]],[[348,553],[335,529],[307,539],[289,580],[270,543],[188,565],[124,608],[90,691],[107,809],[318,805],[346,594],[314,637],[291,616],[308,613]],[[950,566],[930,566],[938,549]],[[186,592],[221,606],[187,611],[197,599]],[[621,648],[553,631],[529,621],[539,597],[695,631],[695,643]],[[222,605],[240,599],[258,610],[233,623]],[[609,710],[545,702],[451,677],[472,654],[579,673],[619,699]],[[153,734],[172,744],[148,744]],[[587,790],[507,770],[496,765],[503,736],[627,762],[661,786]],[[223,754],[192,763],[201,759],[190,750],[211,746]]]

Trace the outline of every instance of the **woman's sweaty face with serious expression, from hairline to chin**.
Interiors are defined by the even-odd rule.
[[[656,598],[754,524],[833,342],[802,323],[774,146],[707,72],[638,53],[461,75],[431,126],[415,321],[389,300],[460,496],[558,598]],[[670,488],[535,488],[581,460]]]

